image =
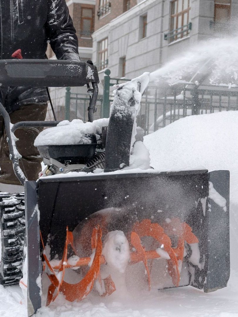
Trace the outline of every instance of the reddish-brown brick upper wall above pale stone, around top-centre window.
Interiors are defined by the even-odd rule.
[[[96,8],[95,8],[95,24],[94,30],[100,29],[102,26],[109,23],[111,20],[115,19],[117,16],[120,16],[124,11],[124,1],[110,1],[110,11],[103,16],[98,17],[97,11],[99,10],[100,0],[96,0]],[[137,4],[136,0],[130,0],[130,8],[134,7]]]

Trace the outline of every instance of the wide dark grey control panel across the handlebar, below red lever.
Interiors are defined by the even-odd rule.
[[[99,78],[97,68],[82,61],[12,59],[0,60],[0,82],[16,87],[78,87],[99,83]]]

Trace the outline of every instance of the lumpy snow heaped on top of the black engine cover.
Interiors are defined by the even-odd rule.
[[[83,123],[80,119],[61,121],[56,127],[43,130],[35,139],[34,146],[90,144],[91,134],[102,133],[102,126],[108,126],[109,119]],[[99,136],[98,138],[99,139]]]

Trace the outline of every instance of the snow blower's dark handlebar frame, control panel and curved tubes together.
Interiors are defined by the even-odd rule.
[[[3,86],[25,87],[82,87],[89,83],[90,89],[89,121],[93,121],[93,113],[96,111],[98,95],[97,83],[99,83],[97,68],[92,64],[78,61],[58,60],[0,60],[0,82]],[[19,166],[22,157],[17,151],[14,132],[22,127],[50,127],[56,126],[59,121],[21,121],[12,125],[9,114],[0,102],[0,114],[3,116],[10,151],[10,159],[14,172],[21,182],[27,180]]]

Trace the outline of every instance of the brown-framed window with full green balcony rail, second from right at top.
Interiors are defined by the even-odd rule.
[[[174,0],[171,2],[170,14],[170,32],[165,35],[165,39],[173,42],[188,35],[192,28],[192,23],[189,23],[189,11],[191,0]]]

